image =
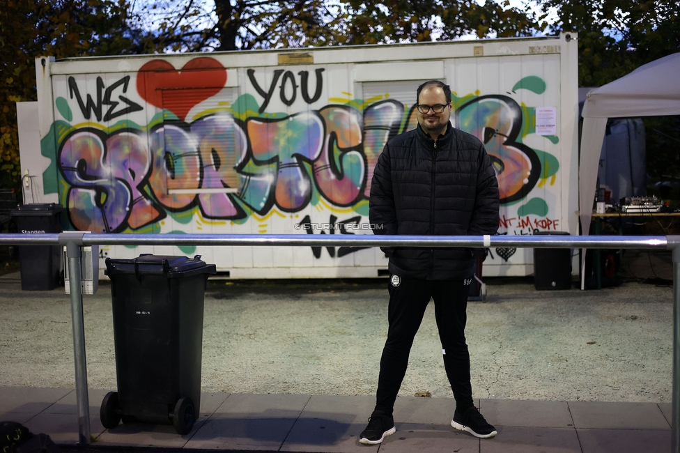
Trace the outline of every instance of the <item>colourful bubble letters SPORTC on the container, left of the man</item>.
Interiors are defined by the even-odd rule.
[[[380,117],[367,112],[373,130],[380,128]],[[394,130],[393,116],[387,130]],[[352,206],[365,197],[362,126],[359,110],[331,105],[245,124],[232,114],[204,116],[191,125],[164,121],[146,135],[129,128],[110,135],[77,130],[59,148],[59,168],[71,187],[65,206],[77,229],[105,232],[139,229],[166,211],[194,206],[207,218],[224,220],[245,217],[241,205],[261,214],[272,206],[297,212],[314,191],[335,206]],[[371,144],[382,149],[388,138],[372,137]],[[201,193],[206,188],[233,190]]]

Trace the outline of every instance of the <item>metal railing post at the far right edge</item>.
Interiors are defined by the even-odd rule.
[[[667,236],[673,251],[673,383],[671,452],[680,453],[680,236]]]

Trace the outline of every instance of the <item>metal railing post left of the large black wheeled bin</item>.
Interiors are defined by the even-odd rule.
[[[65,231],[59,235],[59,245],[66,246],[71,321],[73,326],[73,355],[75,360],[75,392],[78,406],[78,443],[90,443],[90,403],[87,393],[87,363],[85,359],[85,323],[83,315],[81,259],[82,231]]]

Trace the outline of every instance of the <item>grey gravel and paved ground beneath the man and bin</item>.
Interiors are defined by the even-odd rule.
[[[656,261],[654,261],[656,260]],[[665,260],[665,261],[663,261]],[[667,256],[638,256],[666,277]],[[638,263],[639,264],[639,263]],[[664,267],[665,266],[665,267]],[[654,266],[653,266],[654,267]],[[203,332],[201,416],[186,436],[171,425],[106,430],[116,389],[110,286],[85,296],[92,443],[113,452],[668,452],[672,289],[536,291],[530,279],[490,279],[468,306],[473,391],[496,438],[449,426],[433,316],[412,350],[397,399],[397,432],[360,445],[374,404],[386,330],[385,282],[210,282]],[[78,438],[70,302],[63,289],[20,291],[0,277],[0,420],[47,433],[65,451]],[[432,397],[415,397],[430,392]]]

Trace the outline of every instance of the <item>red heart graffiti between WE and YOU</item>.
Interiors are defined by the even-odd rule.
[[[194,105],[226,84],[226,69],[219,61],[202,56],[176,70],[165,60],[152,60],[139,68],[137,92],[146,102],[185,119]]]

